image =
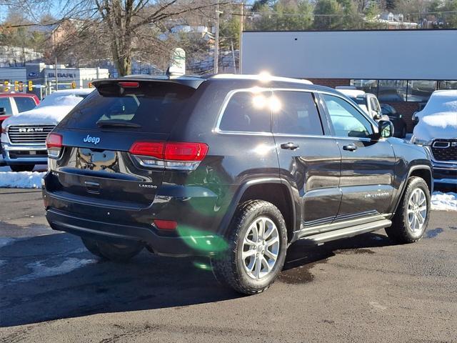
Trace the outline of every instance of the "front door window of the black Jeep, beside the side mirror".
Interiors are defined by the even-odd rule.
[[[369,138],[373,134],[370,121],[348,101],[338,96],[322,94],[336,136]]]

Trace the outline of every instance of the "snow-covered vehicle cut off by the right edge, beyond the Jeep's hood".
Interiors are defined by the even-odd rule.
[[[434,91],[416,119],[411,142],[431,155],[436,182],[457,184],[457,90]]]

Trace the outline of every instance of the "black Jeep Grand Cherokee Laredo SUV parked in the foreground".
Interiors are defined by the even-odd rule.
[[[216,75],[94,81],[49,134],[46,218],[93,254],[211,258],[266,289],[298,239],[377,229],[421,239],[433,185],[421,146],[308,81]]]

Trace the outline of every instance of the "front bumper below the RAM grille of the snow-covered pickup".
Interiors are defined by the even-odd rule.
[[[46,146],[39,145],[13,145],[1,144],[5,164],[47,164],[48,154]]]

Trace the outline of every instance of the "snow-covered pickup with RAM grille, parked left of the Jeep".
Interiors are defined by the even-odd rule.
[[[35,164],[46,164],[46,136],[91,91],[55,91],[36,108],[5,119],[1,124],[4,163],[14,172],[31,171]]]

